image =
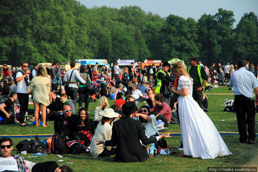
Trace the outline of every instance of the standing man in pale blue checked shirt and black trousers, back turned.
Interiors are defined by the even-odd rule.
[[[256,144],[253,89],[255,95],[258,96],[258,81],[252,72],[246,70],[247,61],[245,59],[239,59],[237,64],[239,69],[232,73],[229,85],[234,88],[239,141],[245,143],[248,138],[247,144]],[[247,130],[246,125],[248,125]]]

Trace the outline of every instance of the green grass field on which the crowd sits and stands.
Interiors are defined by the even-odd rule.
[[[212,122],[214,122],[216,128],[220,132],[238,132],[236,115],[232,112],[224,112],[224,107],[221,105],[226,101],[225,99],[234,99],[234,95],[227,95],[226,93],[233,93],[231,90],[227,90],[228,87],[220,86],[219,88],[213,88],[212,91],[206,91],[205,94],[208,97],[209,108],[207,115],[210,117]],[[213,93],[223,93],[213,94]],[[109,100],[109,104],[114,104],[114,101]],[[139,103],[139,106],[145,103]],[[90,118],[93,118],[94,108],[97,106],[97,102],[89,104],[89,114]],[[34,108],[33,105],[30,105],[29,108]],[[76,107],[78,111],[78,103]],[[222,121],[224,120],[224,121]],[[256,124],[258,123],[258,118],[255,120]],[[6,135],[14,134],[54,134],[54,122],[50,121],[50,127],[35,127],[29,125],[28,127],[19,127],[18,124],[12,125],[3,125],[0,126],[0,132]],[[258,131],[257,125],[255,126],[256,131]],[[169,125],[169,132],[180,132],[180,126],[178,124]],[[258,151],[257,144],[248,145],[241,144],[239,142],[239,135],[223,135],[224,142],[228,146],[230,152],[233,155],[228,157],[218,157],[216,159],[198,159],[192,157],[177,157],[177,154],[180,151],[177,151],[177,154],[168,155],[168,156],[159,156],[147,160],[143,163],[114,163],[112,157],[91,157],[90,154],[84,155],[63,155],[61,162],[58,162],[59,165],[69,164],[73,167],[75,172],[85,172],[85,171],[182,171],[182,172],[203,172],[208,171],[208,167],[243,167],[248,164],[256,155]],[[13,138],[14,145],[19,141],[25,138]],[[41,138],[44,139],[44,138]],[[166,139],[169,146],[177,147],[180,145],[181,136],[172,136],[171,138]],[[13,154],[16,154],[16,151],[13,150]],[[57,155],[49,155],[48,157],[29,157],[32,154],[22,155],[25,159],[32,162],[45,162],[45,161],[58,161]]]

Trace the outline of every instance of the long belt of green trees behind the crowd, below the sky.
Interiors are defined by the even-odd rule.
[[[206,57],[208,65],[255,61],[258,20],[250,12],[233,28],[233,11],[218,9],[195,21],[162,18],[138,6],[88,9],[75,0],[2,0],[0,64],[75,59],[187,60]]]

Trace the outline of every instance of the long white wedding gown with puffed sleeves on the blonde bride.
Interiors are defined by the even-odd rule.
[[[228,156],[226,144],[210,118],[192,97],[193,85],[188,77],[178,80],[178,91],[188,88],[187,96],[178,97],[178,112],[184,155],[202,159]]]

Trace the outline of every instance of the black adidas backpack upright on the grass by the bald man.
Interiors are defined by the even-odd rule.
[[[66,140],[66,138],[62,131],[55,132],[55,134],[53,135],[52,140],[51,140],[50,152],[53,154],[58,154],[58,155],[67,154],[68,150],[65,147],[65,140]]]

